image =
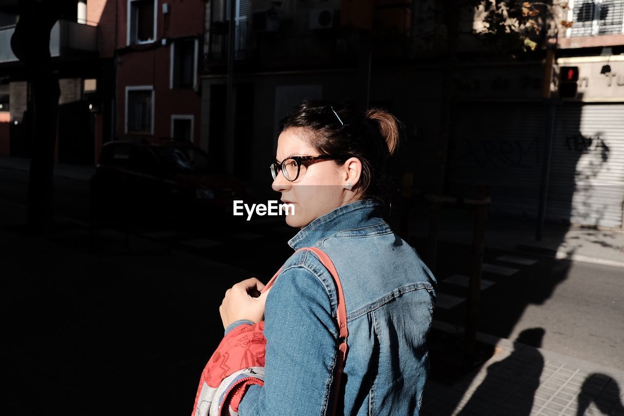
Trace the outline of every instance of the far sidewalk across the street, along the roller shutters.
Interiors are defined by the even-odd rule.
[[[439,240],[472,244],[474,213],[445,209],[441,214]],[[411,235],[426,239],[429,212],[412,210]],[[624,232],[595,230],[574,225],[544,225],[542,241],[535,240],[535,220],[490,214],[485,232],[486,247],[532,252],[557,259],[624,267]]]

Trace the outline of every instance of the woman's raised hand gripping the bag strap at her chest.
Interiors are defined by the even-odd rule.
[[[260,294],[265,285],[255,277],[243,280],[225,292],[223,302],[219,307],[223,329],[239,319],[248,319],[260,322],[265,315],[266,295],[269,290]]]

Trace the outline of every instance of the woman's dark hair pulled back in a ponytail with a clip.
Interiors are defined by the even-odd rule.
[[[378,108],[361,111],[351,101],[304,100],[280,121],[280,132],[295,127],[309,132],[305,139],[319,153],[345,155],[336,159],[338,165],[357,157],[361,197],[376,200],[387,212],[391,181],[386,164],[399,144],[396,117]]]

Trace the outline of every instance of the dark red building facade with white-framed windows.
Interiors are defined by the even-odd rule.
[[[199,143],[203,0],[119,2],[115,132]]]

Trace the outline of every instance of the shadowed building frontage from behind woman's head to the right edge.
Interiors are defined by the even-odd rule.
[[[224,161],[251,152],[255,157],[236,165],[235,173],[258,195],[271,196],[263,172],[275,157],[278,121],[301,99],[326,97],[394,112],[405,139],[398,173],[411,172],[419,191],[433,191],[442,85],[450,76],[446,192],[466,194],[484,184],[492,190],[494,212],[535,218],[542,205],[550,220],[622,229],[624,117],[617,71],[623,1],[542,4],[536,21],[543,29],[531,38],[537,50],[529,60],[487,54],[473,36],[487,26],[487,11],[477,7],[459,19],[451,75],[444,75],[445,51],[436,51],[426,2],[235,3],[234,132],[228,139],[229,8],[212,0],[205,13],[201,142]],[[578,94],[557,99],[560,67],[577,61]],[[612,72],[600,74],[603,64]]]

